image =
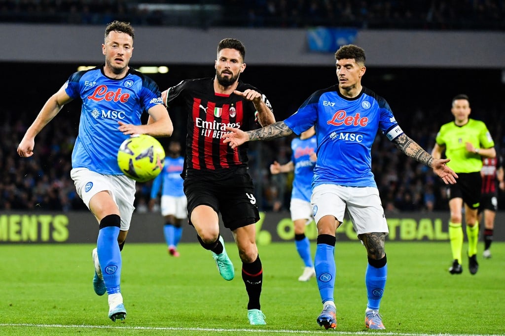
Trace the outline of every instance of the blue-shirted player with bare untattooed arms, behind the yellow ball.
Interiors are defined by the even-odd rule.
[[[72,180],[79,197],[99,223],[97,246],[92,252],[97,295],[109,295],[109,318],[124,319],[126,309],[120,288],[121,250],[130,227],[135,181],[119,169],[120,144],[131,135],[170,136],[172,121],[156,83],[128,66],[133,52],[133,27],[114,21],[105,29],[102,53],[105,65],[78,71],[44,104],[17,149],[33,155],[35,136],[63,106],[82,100],[72,152]],[[148,125],[140,116],[149,114]]]

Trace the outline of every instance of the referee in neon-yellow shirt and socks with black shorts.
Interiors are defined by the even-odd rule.
[[[482,157],[494,158],[496,151],[494,142],[486,125],[478,120],[470,119],[470,100],[467,95],[459,94],[452,98],[451,113],[454,121],[444,124],[436,136],[436,143],[431,154],[452,160],[447,164],[458,176],[458,184],[449,186],[449,240],[452,250],[452,266],[449,273],[463,272],[462,250],[463,229],[462,209],[465,204],[465,222],[468,238],[468,270],[477,273],[477,242],[479,238],[479,220],[477,210],[481,201]]]

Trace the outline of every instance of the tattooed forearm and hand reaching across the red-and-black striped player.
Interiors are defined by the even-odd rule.
[[[273,140],[293,134],[293,131],[287,127],[284,121],[247,132],[231,127],[226,127],[226,130],[230,133],[223,134],[223,142],[230,143],[231,148],[240,146],[247,141]]]

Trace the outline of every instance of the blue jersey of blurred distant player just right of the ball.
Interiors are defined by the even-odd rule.
[[[163,186],[163,196],[180,197],[184,196],[183,183],[181,173],[184,167],[184,157],[165,157],[165,165],[160,175],[153,181],[151,187],[151,198],[156,198],[160,192],[160,187]]]

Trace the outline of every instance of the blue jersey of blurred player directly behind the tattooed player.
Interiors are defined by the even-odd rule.
[[[291,199],[311,201],[312,179],[316,161],[311,160],[311,154],[317,149],[316,136],[308,139],[295,138],[291,141],[291,161],[294,164],[293,190]]]

